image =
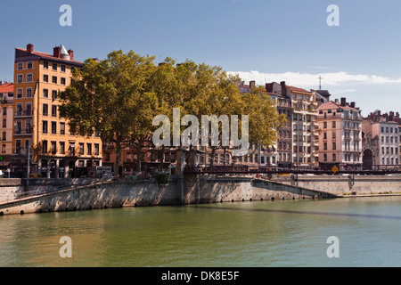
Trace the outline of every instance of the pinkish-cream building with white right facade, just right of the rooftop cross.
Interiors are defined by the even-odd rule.
[[[319,115],[319,164],[333,166],[362,165],[362,116],[356,103],[347,98],[323,102]]]

